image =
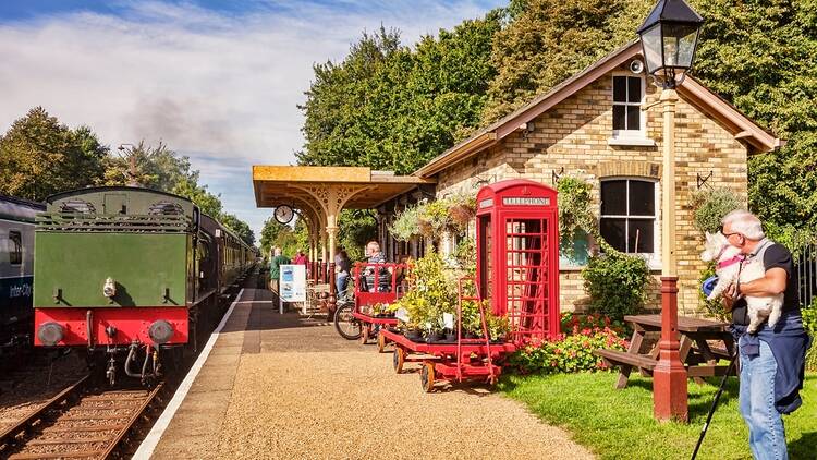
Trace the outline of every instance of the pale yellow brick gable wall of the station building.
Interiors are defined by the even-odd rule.
[[[624,69],[614,72],[623,72]],[[659,90],[649,85],[646,104],[657,101]],[[642,112],[644,116],[645,112]],[[499,144],[441,171],[437,194],[476,192],[478,181],[496,182],[525,178],[552,185],[553,172],[570,173],[594,185],[594,206],[599,211],[599,180],[611,177],[646,178],[660,181],[662,164],[661,106],[648,109],[647,135],[655,146],[611,146],[612,73],[597,80],[534,120],[529,133],[517,131]],[[679,311],[696,314],[700,310],[698,277],[704,269],[699,254],[703,237],[692,223],[690,194],[697,190],[697,177],[711,178],[707,184],[733,190],[746,202],[747,149],[717,121],[697,107],[680,99],[675,114],[675,196]],[[659,185],[660,189],[660,185]],[[659,194],[660,195],[660,194]],[[660,219],[661,198],[656,206]],[[660,249],[660,226],[657,247]],[[647,307],[660,308],[658,276],[650,288]],[[588,299],[578,271],[560,274],[561,307],[582,310]]]

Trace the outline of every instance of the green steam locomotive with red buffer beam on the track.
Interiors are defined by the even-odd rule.
[[[82,347],[143,382],[251,268],[251,249],[181,196],[98,187],[46,201],[37,218],[34,343]],[[124,359],[123,359],[124,356]]]

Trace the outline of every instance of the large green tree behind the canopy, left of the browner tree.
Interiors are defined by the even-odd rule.
[[[343,61],[315,65],[301,106],[306,144],[298,164],[404,174],[452,146],[478,124],[500,20],[491,12],[464,21],[414,49],[381,27],[364,34]]]

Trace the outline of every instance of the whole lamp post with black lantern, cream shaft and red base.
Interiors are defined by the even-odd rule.
[[[661,223],[661,340],[653,372],[653,414],[658,420],[687,421],[686,370],[679,354],[678,274],[675,268],[675,86],[695,58],[704,20],[683,0],[660,0],[638,35],[647,72],[663,87],[663,172]]]

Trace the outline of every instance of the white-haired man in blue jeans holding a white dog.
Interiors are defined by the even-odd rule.
[[[742,267],[763,263],[764,278],[731,286],[724,305],[732,312],[732,334],[737,340],[741,363],[740,410],[749,429],[749,448],[755,459],[785,460],[785,431],[781,414],[801,404],[805,353],[809,338],[803,329],[797,294],[797,273],[785,246],[767,239],[760,219],[746,210],[728,214],[721,226],[727,241],[741,250]],[[781,318],[757,334],[746,331],[749,324],[745,295],[783,294]]]

